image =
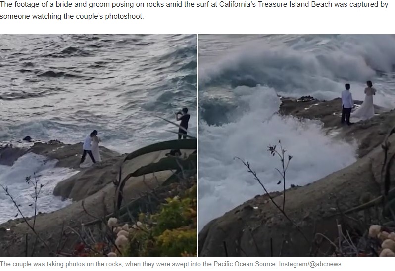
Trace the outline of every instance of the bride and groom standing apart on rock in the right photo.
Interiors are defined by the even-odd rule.
[[[345,122],[347,125],[352,125],[350,117],[367,120],[374,116],[373,95],[376,95],[377,90],[373,88],[372,81],[366,81],[367,87],[365,88],[365,100],[361,107],[351,113],[352,108],[355,108],[352,94],[350,92],[350,84],[346,84],[346,90],[342,92],[342,124]]]

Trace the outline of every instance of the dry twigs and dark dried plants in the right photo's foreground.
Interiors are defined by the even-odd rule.
[[[247,171],[251,173],[253,178],[259,183],[259,185],[265,191],[269,201],[276,207],[279,214],[284,216],[288,222],[290,222],[303,236],[306,241],[306,246],[310,246],[310,256],[325,255],[325,256],[395,256],[395,189],[390,189],[391,176],[390,170],[393,166],[395,153],[389,155],[390,144],[388,138],[395,133],[393,128],[390,133],[386,136],[382,149],[384,152],[384,163],[381,172],[381,186],[382,195],[377,198],[375,203],[369,204],[366,207],[360,208],[359,212],[347,212],[342,210],[340,206],[337,208],[337,232],[338,236],[336,239],[328,238],[324,233],[314,232],[306,233],[303,232],[299,226],[287,215],[286,206],[286,171],[292,156],[285,155],[286,150],[279,141],[280,150],[276,149],[276,145],[269,146],[268,151],[272,156],[276,156],[280,159],[281,168],[276,168],[278,173],[281,175],[282,180],[278,184],[283,184],[283,204],[276,203],[273,194],[269,193],[265,188],[264,184],[258,178],[256,172],[253,171],[249,162],[240,159],[242,163],[247,167]],[[366,191],[369,192],[369,191]],[[278,194],[278,193],[277,193]],[[363,213],[363,214],[361,214]],[[255,243],[259,240],[253,240]],[[321,249],[321,244],[324,242],[330,243],[330,248],[326,251]],[[227,255],[227,244],[224,243],[225,254]],[[280,255],[271,256],[281,256]],[[248,255],[246,255],[248,256]]]

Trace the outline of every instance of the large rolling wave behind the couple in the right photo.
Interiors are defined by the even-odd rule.
[[[354,99],[363,100],[365,82],[372,80],[378,90],[374,103],[395,104],[394,35],[211,35],[199,36],[201,44],[209,48],[199,49],[200,87],[249,81],[285,96],[334,99],[348,82]]]

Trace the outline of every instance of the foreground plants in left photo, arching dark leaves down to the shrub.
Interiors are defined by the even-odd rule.
[[[185,131],[183,127],[180,127],[172,121],[166,120],[162,117],[158,118]],[[169,132],[179,134],[174,131]],[[187,137],[190,139],[196,139],[196,137],[191,135],[187,135]],[[187,149],[193,149],[194,142],[184,140],[183,142],[187,142],[189,144]],[[163,147],[165,147],[164,149],[169,148],[169,146],[171,149],[180,149],[179,145],[180,142],[172,142],[171,145],[169,145],[168,142],[162,142],[156,144],[154,148],[148,146],[144,148],[143,151],[142,149],[137,150],[129,154],[125,160],[133,159],[136,155],[142,155],[142,152],[163,150]],[[185,157],[185,159],[186,158],[187,157]],[[183,158],[180,157],[180,160],[181,159]],[[98,238],[93,237],[89,228],[84,228],[82,226],[81,230],[78,231],[70,228],[82,241],[82,243],[76,247],[74,254],[77,256],[102,255],[110,257],[196,256],[196,177],[188,177],[191,175],[190,172],[184,168],[186,163],[181,163],[180,160],[176,160],[177,172],[174,173],[175,176],[177,176],[178,181],[166,184],[158,189],[152,189],[146,184],[151,192],[145,193],[139,198],[127,203],[124,206],[127,207],[127,213],[124,212],[125,209],[123,209],[123,211],[120,210],[123,201],[123,187],[128,179],[136,176],[129,174],[122,179],[121,167],[119,171],[119,180],[114,181],[114,184],[117,186],[118,193],[116,198],[116,211],[111,214],[113,217],[105,216],[101,219],[97,218],[92,214],[89,214],[83,205],[84,211],[90,217],[95,219],[94,224],[99,222],[105,226],[104,234],[99,237],[103,245],[99,248],[97,247]],[[176,170],[174,166],[171,167],[173,168],[170,168],[170,170]],[[149,170],[152,169],[149,168],[148,171]],[[192,172],[194,171],[192,170]],[[139,174],[142,174],[142,172]],[[146,174],[148,173],[145,172],[144,175]],[[139,211],[136,212],[136,210]],[[137,215],[138,212],[140,212],[139,215]],[[122,221],[128,221],[128,223]],[[88,225],[92,224],[88,223]]]

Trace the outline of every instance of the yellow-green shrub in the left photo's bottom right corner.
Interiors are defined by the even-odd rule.
[[[179,196],[167,198],[155,214],[140,214],[144,228],[129,234],[124,256],[196,256],[196,183]]]

